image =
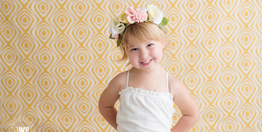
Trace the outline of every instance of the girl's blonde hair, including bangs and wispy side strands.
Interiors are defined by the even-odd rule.
[[[120,34],[121,43],[119,45],[120,51],[123,54],[123,57],[120,60],[116,60],[116,62],[122,62],[129,58],[127,54],[127,49],[134,44],[145,43],[149,40],[154,40],[157,42],[165,43],[163,54],[167,55],[166,52],[170,51],[168,48],[170,45],[170,41],[166,36],[166,31],[157,26],[155,23],[147,21],[140,23],[133,23],[127,26],[124,33]],[[128,62],[129,66],[131,63]]]

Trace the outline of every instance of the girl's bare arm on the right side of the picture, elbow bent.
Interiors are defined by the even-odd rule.
[[[174,91],[174,102],[182,116],[171,132],[188,132],[197,123],[200,113],[195,99],[189,94],[186,86],[175,77],[171,77],[170,86]]]

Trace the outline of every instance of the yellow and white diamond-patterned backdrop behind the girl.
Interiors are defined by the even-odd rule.
[[[262,132],[262,0],[0,0],[0,131],[27,116],[37,132],[116,132],[98,99],[130,67],[108,27],[152,3],[174,48],[161,65],[200,109],[190,132]]]

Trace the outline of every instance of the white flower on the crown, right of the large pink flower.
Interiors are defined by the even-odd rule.
[[[157,9],[157,7],[154,4],[147,5],[147,9],[149,21],[155,24],[161,23],[163,19],[163,12]]]

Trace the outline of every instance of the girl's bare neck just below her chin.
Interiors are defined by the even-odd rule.
[[[150,71],[138,69],[138,68],[135,68],[135,67],[132,67],[130,70],[133,70],[134,72],[139,72],[143,76],[159,76],[160,70],[162,70],[162,66],[160,66],[160,64],[158,64],[157,66],[155,66]]]

